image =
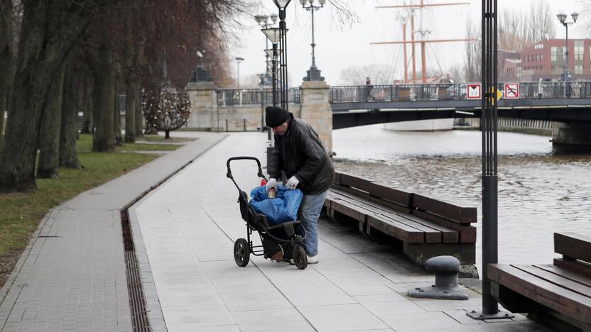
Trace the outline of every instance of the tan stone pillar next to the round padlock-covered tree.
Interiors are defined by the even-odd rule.
[[[202,131],[218,131],[217,98],[214,83],[189,82],[187,94],[191,102],[191,115],[186,127]],[[223,126],[221,127],[223,128]]]

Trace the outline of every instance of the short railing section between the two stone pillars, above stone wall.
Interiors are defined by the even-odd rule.
[[[219,106],[273,104],[271,89],[217,89],[215,92]],[[300,99],[299,88],[289,89],[288,101],[290,103],[300,104]]]

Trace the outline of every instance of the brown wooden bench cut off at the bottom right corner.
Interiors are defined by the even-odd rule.
[[[492,294],[558,331],[591,331],[591,238],[554,233],[554,251],[554,264],[489,265]]]

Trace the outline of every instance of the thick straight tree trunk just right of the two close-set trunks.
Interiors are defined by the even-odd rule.
[[[107,38],[106,36],[104,38]],[[92,150],[105,152],[115,150],[114,114],[115,65],[111,50],[107,45],[99,47],[97,70],[94,72],[94,102],[96,118],[94,121],[94,140]]]

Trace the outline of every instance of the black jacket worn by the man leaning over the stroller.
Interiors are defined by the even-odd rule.
[[[286,134],[273,136],[275,148],[269,162],[269,175],[276,179],[281,179],[282,171],[287,179],[295,175],[300,180],[298,189],[304,194],[325,192],[335,179],[335,167],[318,133],[291,113],[288,121]]]

